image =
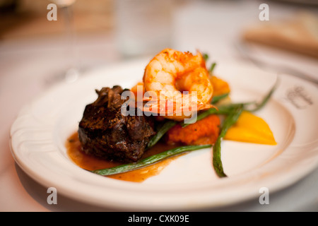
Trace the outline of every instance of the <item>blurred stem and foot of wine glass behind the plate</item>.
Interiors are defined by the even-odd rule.
[[[65,35],[65,47],[67,54],[67,61],[69,61],[69,66],[66,70],[54,75],[53,78],[49,78],[47,83],[52,84],[59,81],[73,82],[78,79],[80,75],[80,70],[78,69],[78,58],[76,56],[76,32],[73,26],[73,4],[76,0],[50,0],[53,4],[58,7],[59,15],[61,15],[64,20],[64,35]]]

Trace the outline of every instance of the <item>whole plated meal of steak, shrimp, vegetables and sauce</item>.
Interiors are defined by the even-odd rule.
[[[173,159],[211,148],[211,167],[227,177],[221,141],[276,145],[269,125],[254,114],[275,85],[261,102],[232,102],[230,85],[207,61],[201,52],[163,49],[133,87],[96,90],[97,99],[66,141],[71,160],[95,174],[143,182]]]

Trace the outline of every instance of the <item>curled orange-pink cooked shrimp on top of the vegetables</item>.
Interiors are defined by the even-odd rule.
[[[210,105],[213,85],[201,53],[163,49],[146,66],[143,85],[152,100],[143,112],[181,121]],[[147,99],[148,97],[148,99]]]

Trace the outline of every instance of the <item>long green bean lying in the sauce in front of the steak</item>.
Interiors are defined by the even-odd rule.
[[[94,172],[95,174],[99,174],[102,176],[112,175],[112,174],[118,174],[122,172],[128,172],[133,169],[139,169],[141,167],[146,167],[148,165],[152,165],[156,162],[159,162],[161,160],[166,159],[167,157],[172,157],[175,155],[179,155],[181,153],[186,153],[189,151],[204,149],[204,148],[211,148],[212,145],[189,145],[189,146],[182,146],[178,148],[173,148],[171,150],[166,150],[163,153],[158,153],[156,155],[152,155],[150,157],[146,157],[142,160],[139,160],[138,162],[128,163],[124,165],[119,165],[117,167],[111,167],[107,169],[96,169],[91,172]]]

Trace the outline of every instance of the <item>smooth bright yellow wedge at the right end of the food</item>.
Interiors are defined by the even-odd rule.
[[[225,140],[276,145],[269,125],[250,112],[242,112],[236,124],[225,134]]]

